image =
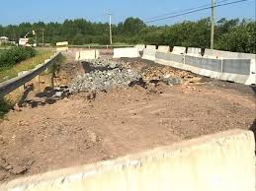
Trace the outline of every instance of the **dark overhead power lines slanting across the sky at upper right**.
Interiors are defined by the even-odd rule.
[[[223,7],[223,6],[226,6],[226,5],[241,3],[241,2],[245,2],[245,1],[250,1],[250,0],[232,1],[232,2],[228,2],[228,3],[217,4],[217,5],[215,5],[214,7]],[[208,10],[208,9],[212,9],[212,8],[213,8],[213,6],[205,7],[205,8],[202,8],[202,9],[197,9],[197,10],[189,11],[189,12],[186,12],[186,13],[181,13],[181,14],[172,15],[172,16],[169,16],[169,17],[164,17],[164,18],[161,18],[161,19],[151,20],[151,21],[148,21],[148,22],[145,22],[145,23],[146,23],[146,24],[149,24],[149,23],[153,23],[153,22],[158,22],[158,21],[162,21],[162,20],[167,20],[167,19],[171,19],[171,18],[175,18],[175,17],[179,17],[179,16],[184,16],[184,15],[189,15],[189,14],[192,14],[192,13],[201,12],[201,11]]]

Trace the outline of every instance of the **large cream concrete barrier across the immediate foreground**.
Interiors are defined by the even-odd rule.
[[[122,159],[14,180],[1,191],[255,191],[255,141],[232,130]]]

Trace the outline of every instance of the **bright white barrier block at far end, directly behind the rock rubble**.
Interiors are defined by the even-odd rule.
[[[114,48],[113,58],[136,58],[139,57],[139,51],[135,47]]]

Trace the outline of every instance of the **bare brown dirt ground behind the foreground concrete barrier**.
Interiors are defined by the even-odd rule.
[[[128,61],[148,75],[159,72],[152,63]],[[255,126],[256,98],[250,87],[164,70],[185,75],[184,84],[81,93],[10,111],[0,122],[0,182]],[[79,63],[68,63],[58,80],[82,72]]]

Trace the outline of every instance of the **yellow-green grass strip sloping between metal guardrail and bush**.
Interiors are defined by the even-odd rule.
[[[1,51],[4,50],[0,50]],[[34,69],[37,65],[42,64],[45,59],[48,59],[53,54],[51,50],[38,50],[38,55],[34,58],[30,58],[21,63],[16,64],[13,67],[0,68],[0,83],[10,80],[18,76],[18,73],[22,71],[28,71]]]

